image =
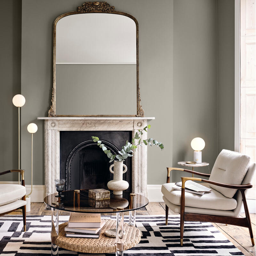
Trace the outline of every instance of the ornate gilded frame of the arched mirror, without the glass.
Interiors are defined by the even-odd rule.
[[[136,115],[57,115],[56,114],[56,25],[57,22],[68,15],[73,14],[81,14],[81,13],[93,13],[93,12],[101,12],[101,13],[113,13],[113,14],[119,14],[124,15],[129,18],[131,18],[135,24],[136,24],[136,54],[137,54],[137,63],[136,63],[136,70],[137,70],[137,114]],[[105,117],[111,117],[111,116],[120,116],[120,117],[144,117],[144,110],[142,109],[142,106],[140,105],[140,87],[139,87],[139,29],[138,29],[138,21],[130,14],[125,12],[119,12],[115,11],[114,6],[110,6],[107,2],[86,2],[82,4],[82,6],[77,7],[77,11],[73,12],[67,12],[64,14],[61,14],[53,24],[53,87],[52,87],[52,105],[48,111],[48,117],[58,117],[58,116],[88,116],[88,117],[95,117],[95,116],[105,116]]]

